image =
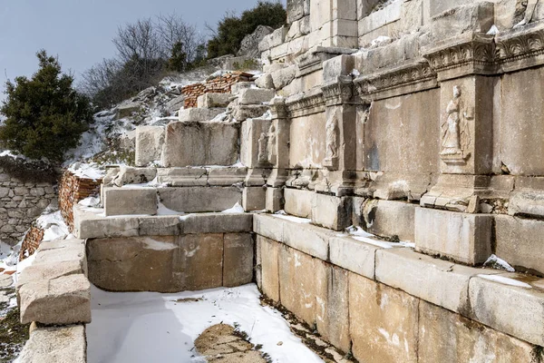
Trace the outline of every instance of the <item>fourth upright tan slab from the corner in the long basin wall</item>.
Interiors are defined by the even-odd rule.
[[[349,273],[352,352],[360,362],[417,362],[419,299]]]

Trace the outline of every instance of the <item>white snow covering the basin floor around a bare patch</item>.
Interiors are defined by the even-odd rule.
[[[291,333],[279,312],[260,305],[254,284],[178,294],[112,293],[92,287],[91,297],[89,363],[205,362],[194,351],[194,340],[221,322],[248,333],[272,362],[323,362]]]

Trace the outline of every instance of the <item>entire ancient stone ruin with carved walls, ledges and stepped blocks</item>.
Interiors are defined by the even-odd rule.
[[[102,207],[73,205],[78,240],[40,246],[21,362],[86,361],[90,282],[255,281],[359,362],[544,358],[544,4],[287,10],[264,74],[141,127]]]

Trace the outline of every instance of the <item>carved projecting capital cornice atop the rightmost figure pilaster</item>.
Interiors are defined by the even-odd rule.
[[[439,81],[467,74],[496,74],[493,35],[468,33],[423,49]]]

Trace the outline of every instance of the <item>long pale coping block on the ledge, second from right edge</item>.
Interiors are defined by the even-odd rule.
[[[375,259],[376,280],[454,312],[468,306],[471,277],[500,273],[433,259],[411,249],[377,250]]]

